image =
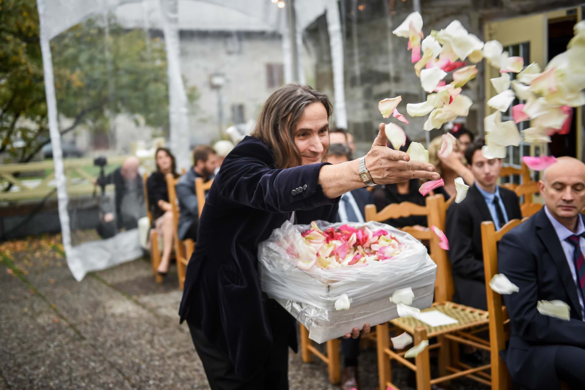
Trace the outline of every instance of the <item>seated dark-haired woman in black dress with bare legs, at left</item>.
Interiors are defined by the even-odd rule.
[[[156,171],[146,180],[149,204],[152,210],[154,228],[160,237],[163,237],[163,256],[160,259],[160,275],[166,276],[168,264],[171,260],[171,249],[173,249],[173,213],[171,204],[168,203],[167,173],[177,177],[177,163],[175,156],[167,148],[157,148],[154,153]],[[195,183],[193,184],[195,185]]]

